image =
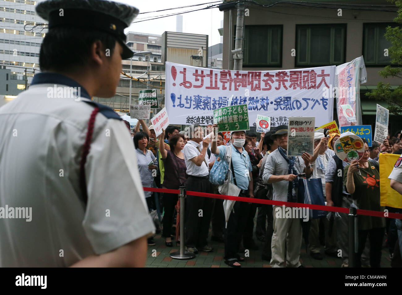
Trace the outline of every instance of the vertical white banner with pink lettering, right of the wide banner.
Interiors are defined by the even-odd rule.
[[[349,126],[350,120],[343,112],[342,105],[349,104],[355,114],[357,125],[361,121],[360,84],[367,81],[363,56],[349,63],[338,65],[335,70],[335,92],[339,127]]]

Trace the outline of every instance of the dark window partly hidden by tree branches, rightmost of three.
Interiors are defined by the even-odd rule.
[[[389,65],[391,58],[388,50],[391,42],[385,39],[387,26],[393,23],[367,23],[363,24],[363,57],[366,65]],[[385,55],[384,55],[385,54]]]

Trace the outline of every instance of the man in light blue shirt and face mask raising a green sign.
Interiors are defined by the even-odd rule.
[[[252,184],[252,167],[250,158],[247,152],[244,150],[243,145],[246,140],[246,131],[232,131],[230,134],[232,144],[228,147],[225,145],[217,146],[216,134],[217,125],[212,126],[213,140],[211,144],[211,152],[216,157],[221,159],[225,158],[227,149],[232,149],[232,165],[229,169],[232,169],[232,175],[234,184],[241,189],[240,197],[254,197],[253,184]],[[242,234],[250,210],[250,204],[246,202],[236,201],[233,206],[233,210],[230,213],[228,220],[228,226],[225,232],[225,263],[230,267],[241,267],[239,261],[244,260],[237,253],[240,248],[240,242],[242,240]]]

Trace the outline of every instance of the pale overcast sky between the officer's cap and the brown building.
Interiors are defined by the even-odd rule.
[[[186,1],[166,1],[166,0],[151,0],[151,1],[134,1],[134,0],[118,0],[126,4],[130,4],[139,9],[139,12],[148,12],[155,10],[162,10],[167,8],[175,8],[180,6],[188,6],[194,4],[213,2],[214,0],[186,0]],[[222,3],[222,1],[219,1]],[[219,2],[213,3],[218,4]],[[194,10],[206,7],[212,4],[205,4],[195,7],[187,7],[175,10],[167,10],[146,14],[139,14],[135,21],[143,20],[148,17],[158,17],[164,14],[172,14],[184,12],[187,10]],[[224,18],[223,12],[220,12],[218,8],[211,8],[206,10],[188,12],[183,15],[183,33],[194,33],[208,35],[209,46],[219,43],[220,36],[218,28],[221,28],[221,20]],[[156,20],[146,20],[144,22],[138,22],[131,24],[129,28],[125,30],[134,31],[140,33],[150,33],[162,35],[164,31],[176,31],[176,16],[168,16],[165,18],[159,18]]]

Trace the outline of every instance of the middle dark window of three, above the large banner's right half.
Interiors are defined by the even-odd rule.
[[[296,67],[345,63],[346,24],[296,26]]]

